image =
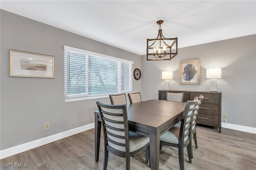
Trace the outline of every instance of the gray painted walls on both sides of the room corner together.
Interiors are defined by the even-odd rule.
[[[180,48],[171,61],[146,61],[146,56],[4,10],[0,22],[0,150],[94,123],[96,99],[64,103],[63,45],[134,61],[142,78],[134,80],[133,91],[142,92],[142,100],[158,99],[158,90],[164,89],[161,71],[174,71],[173,90],[209,91],[206,68],[222,67],[222,113],[228,113],[228,123],[256,127],[255,35]],[[54,55],[55,78],[9,77],[9,49]],[[201,84],[179,85],[179,62],[192,59],[201,60]],[[49,130],[44,130],[46,122]]]

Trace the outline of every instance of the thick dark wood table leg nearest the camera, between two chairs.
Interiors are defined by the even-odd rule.
[[[159,170],[160,134],[156,130],[149,131],[150,165],[152,170]]]

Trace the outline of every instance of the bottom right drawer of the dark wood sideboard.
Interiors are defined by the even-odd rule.
[[[210,126],[218,126],[218,115],[211,115],[198,112],[196,123]]]

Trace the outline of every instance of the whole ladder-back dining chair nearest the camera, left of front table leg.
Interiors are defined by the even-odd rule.
[[[129,131],[126,105],[96,103],[104,132],[103,170],[107,169],[108,152],[126,158],[126,170],[129,170],[130,156],[144,148],[149,149],[149,137]]]

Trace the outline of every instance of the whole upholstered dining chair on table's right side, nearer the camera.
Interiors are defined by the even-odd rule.
[[[189,134],[191,130],[192,116],[197,102],[198,99],[187,101],[180,127],[172,127],[160,136],[160,147],[162,147],[163,144],[178,147],[180,170],[184,170],[184,147],[187,147],[188,159],[189,162],[192,163]]]

